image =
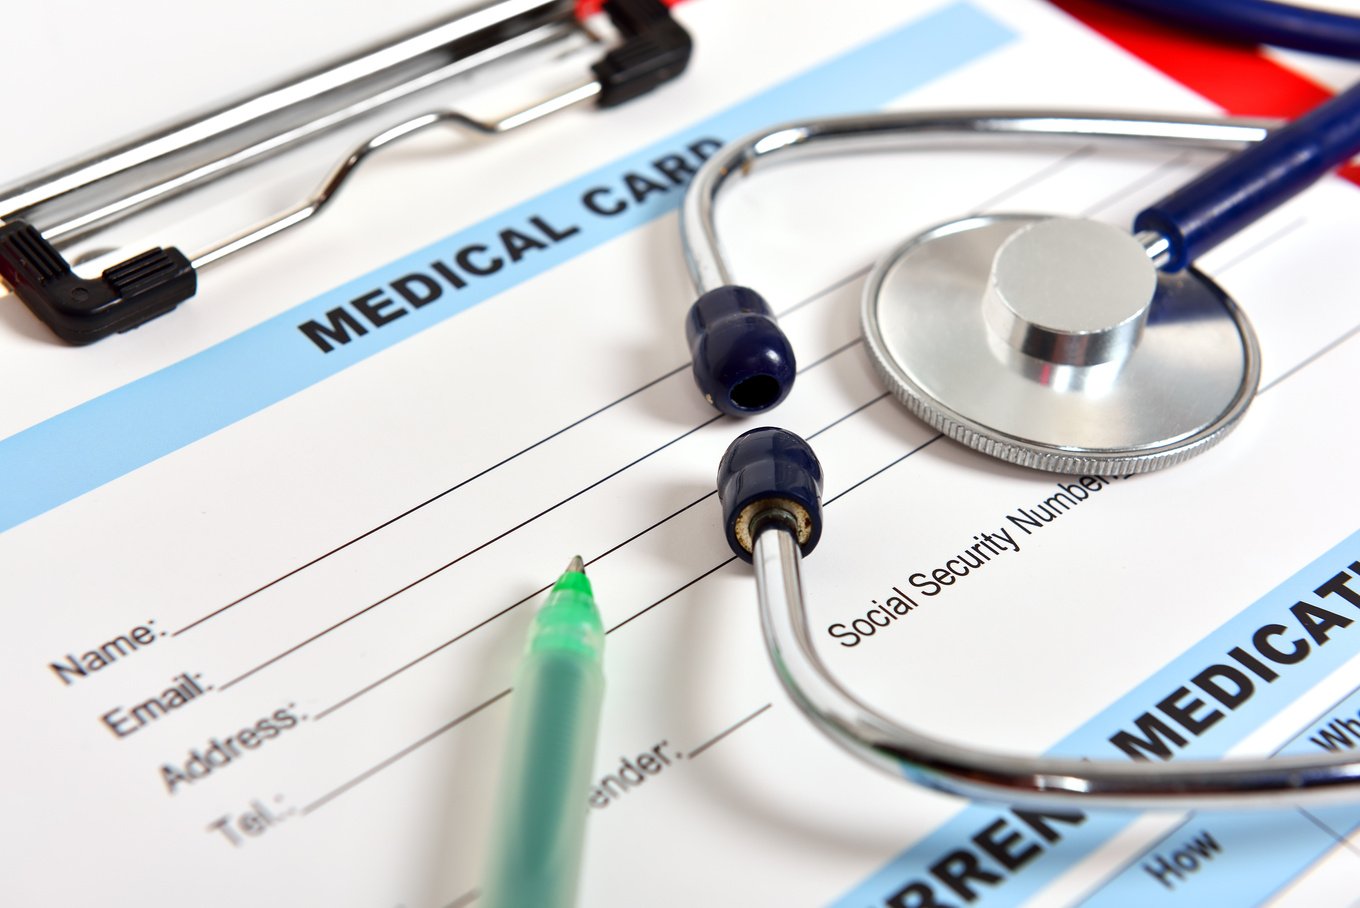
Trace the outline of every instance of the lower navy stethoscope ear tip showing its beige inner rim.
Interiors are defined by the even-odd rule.
[[[718,462],[718,502],[728,545],[751,561],[760,518],[779,514],[804,555],[821,538],[821,464],[812,447],[782,428],[738,435]]]

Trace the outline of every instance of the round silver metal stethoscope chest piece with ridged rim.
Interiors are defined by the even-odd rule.
[[[883,258],[861,324],[888,389],[979,451],[1062,473],[1141,473],[1198,454],[1257,390],[1251,325],[1212,280],[1157,270],[1130,234],[968,217]]]

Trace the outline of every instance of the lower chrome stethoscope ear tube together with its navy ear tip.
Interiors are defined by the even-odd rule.
[[[821,466],[781,428],[738,436],[718,466],[728,542],[752,563],[766,648],[794,704],[838,745],[908,782],[974,801],[1054,809],[1265,809],[1360,798],[1355,757],[1174,764],[963,748],[900,726],[831,677],[808,627],[801,559],[821,533]]]

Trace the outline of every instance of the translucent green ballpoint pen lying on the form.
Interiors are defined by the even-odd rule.
[[[604,625],[578,555],[534,616],[515,673],[483,905],[575,904],[602,655]]]

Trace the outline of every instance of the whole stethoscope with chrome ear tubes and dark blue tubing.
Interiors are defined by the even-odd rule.
[[[1190,18],[1242,16],[1248,27],[1259,24],[1262,8],[1308,22],[1325,15],[1255,0],[1174,5]],[[1355,56],[1360,24],[1338,19],[1346,30],[1325,34],[1349,38]],[[1259,352],[1243,313],[1190,262],[1360,151],[1360,87],[1287,126],[888,113],[786,124],[733,143],[696,174],[681,212],[700,294],[685,326],[709,402],[729,415],[760,413],[787,396],[796,374],[770,304],[732,283],[714,223],[724,189],[771,163],[812,155],[1015,139],[1156,140],[1238,154],[1146,208],[1132,232],[1081,219],[985,215],[899,245],[869,273],[861,309],[866,348],[887,387],[949,438],[1044,470],[1146,472],[1221,440],[1255,393]],[[785,430],[745,432],[718,466],[726,538],[755,568],[775,673],[797,707],[865,763],[938,791],[1020,806],[1259,809],[1360,795],[1355,758],[1153,765],[1031,757],[959,746],[896,723],[840,686],[812,644],[801,559],[821,536],[820,496],[816,455]]]

